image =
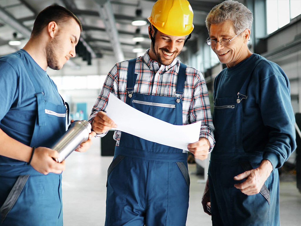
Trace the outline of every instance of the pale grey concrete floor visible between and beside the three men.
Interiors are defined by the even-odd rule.
[[[73,152],[66,160],[63,172],[64,226],[104,225],[107,168],[113,157],[100,155],[100,138],[93,138],[85,153]],[[189,164],[190,201],[187,226],[211,225],[211,217],[203,212],[201,198],[204,184],[195,174],[196,165]],[[301,193],[295,177],[281,175],[280,220],[282,226],[301,225]]]

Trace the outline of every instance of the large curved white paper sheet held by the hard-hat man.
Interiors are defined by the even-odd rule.
[[[127,105],[114,95],[106,108],[117,128],[134,136],[159,144],[188,150],[187,145],[199,140],[201,121],[189,125],[173,125]]]

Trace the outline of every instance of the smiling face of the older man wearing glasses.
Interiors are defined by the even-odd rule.
[[[209,35],[210,39],[216,41],[221,39],[232,39],[236,35],[234,32],[233,22],[226,20],[220,24],[211,24]],[[216,53],[219,61],[230,68],[252,54],[247,46],[249,37],[250,30],[246,29],[237,37],[232,39],[229,46],[222,46],[219,42],[217,42],[216,46],[211,46],[211,49]]]

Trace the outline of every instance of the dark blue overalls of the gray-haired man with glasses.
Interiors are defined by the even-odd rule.
[[[241,89],[237,90],[237,96],[223,97],[218,92],[214,94],[216,144],[211,153],[208,173],[214,226],[280,225],[277,169],[272,171],[256,195],[247,196],[234,187],[234,184],[244,181],[236,181],[234,176],[259,167],[262,161],[262,152],[244,152],[242,143],[243,103],[253,101],[247,95],[251,77],[252,70]],[[216,85],[214,88],[216,91]]]

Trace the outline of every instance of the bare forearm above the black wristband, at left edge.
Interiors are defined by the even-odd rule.
[[[29,147],[13,138],[8,136],[3,130],[0,129],[0,155],[28,162],[31,156],[32,147]]]

